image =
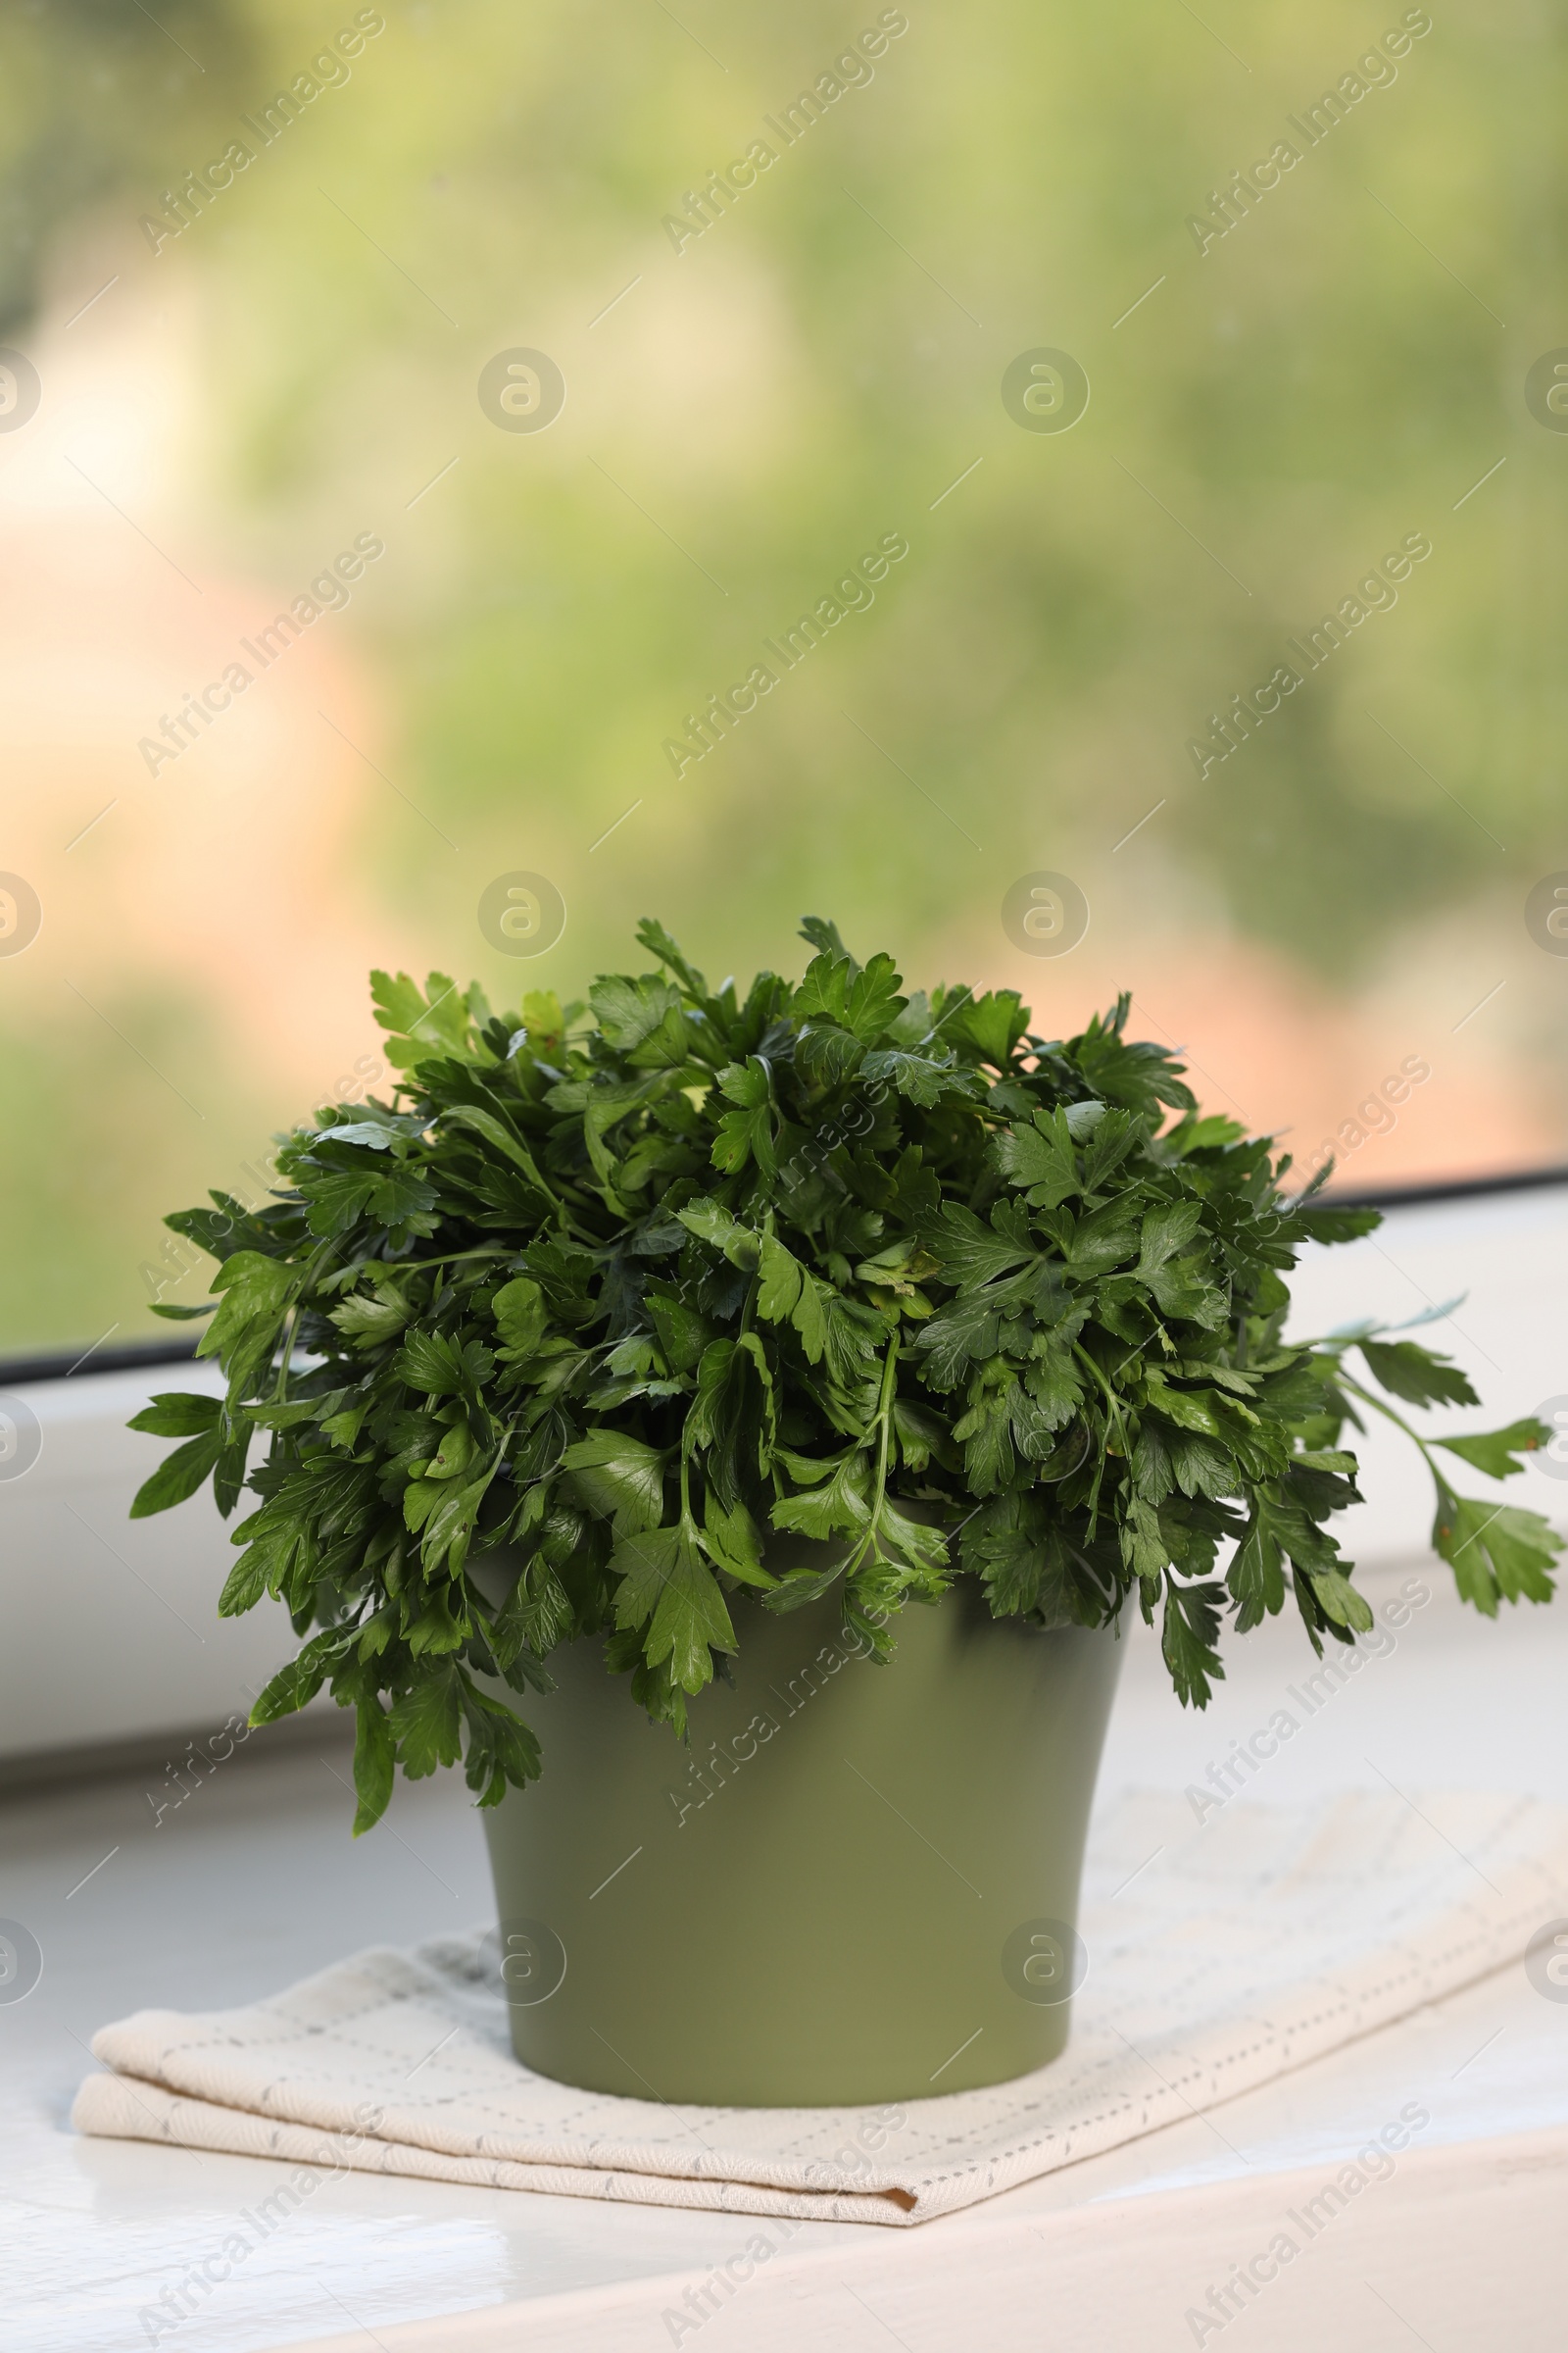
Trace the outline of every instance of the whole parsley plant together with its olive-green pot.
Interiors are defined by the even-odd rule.
[[[393,1101],[299,1127],[266,1207],[169,1219],[228,1386],[136,1417],[183,1445],[134,1511],[249,1489],[219,1607],[306,1638],[254,1722],[355,1711],[355,1831],[463,1760],[529,2066],[790,2106],[1018,2075],[1084,1967],[1124,1612],[1192,1706],[1227,1621],[1354,1642],[1342,1431],[1474,1393],[1373,1325],[1284,1339],[1302,1245],[1378,1217],[1291,1198],[1126,998],[1048,1040],[816,918],[745,995],[637,936],[588,1007],[374,976]],[[1547,1522],[1410,1435],[1460,1593],[1549,1600]],[[1547,1435],[1441,1445],[1507,1478]]]

